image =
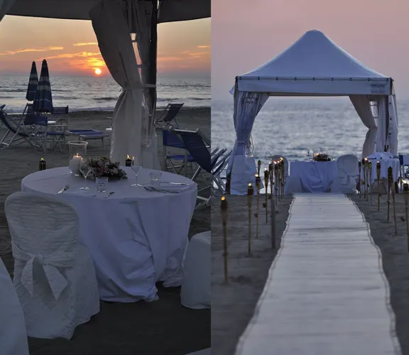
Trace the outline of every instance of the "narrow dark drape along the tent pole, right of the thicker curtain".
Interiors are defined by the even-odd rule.
[[[151,1],[124,1],[124,13],[131,33],[135,35],[136,56],[143,84],[141,116],[141,159],[145,168],[160,169],[158,159],[158,136],[155,131],[156,84],[150,82],[151,70],[156,71],[156,62],[151,62],[153,22],[155,16]]]

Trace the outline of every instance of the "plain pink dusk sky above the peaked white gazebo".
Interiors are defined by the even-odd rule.
[[[212,98],[226,99],[236,75],[317,29],[409,97],[408,0],[219,0],[212,2]]]

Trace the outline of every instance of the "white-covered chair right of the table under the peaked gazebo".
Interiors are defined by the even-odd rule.
[[[331,192],[356,194],[358,179],[358,158],[354,154],[341,155],[337,159],[337,179],[334,180]]]

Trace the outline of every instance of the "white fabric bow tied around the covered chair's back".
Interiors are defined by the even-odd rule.
[[[48,284],[53,291],[55,300],[58,300],[61,293],[67,287],[68,283],[65,277],[58,271],[58,268],[69,268],[74,264],[75,253],[77,250],[71,252],[54,253],[50,256],[42,256],[41,254],[34,255],[21,250],[16,244],[11,243],[13,249],[13,257],[25,262],[26,265],[21,272],[21,283],[24,288],[33,296],[33,263],[36,260],[42,267],[47,277]]]

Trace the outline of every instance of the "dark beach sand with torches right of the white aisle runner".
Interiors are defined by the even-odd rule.
[[[398,234],[393,222],[391,203],[390,222],[387,222],[387,195],[381,197],[378,211],[378,197],[373,195],[373,205],[363,197],[349,196],[364,214],[371,228],[373,241],[381,250],[383,271],[391,288],[391,305],[396,316],[396,331],[403,355],[409,355],[409,253],[406,234],[405,203],[402,194],[396,195],[396,220]],[[392,201],[392,198],[391,198]]]

